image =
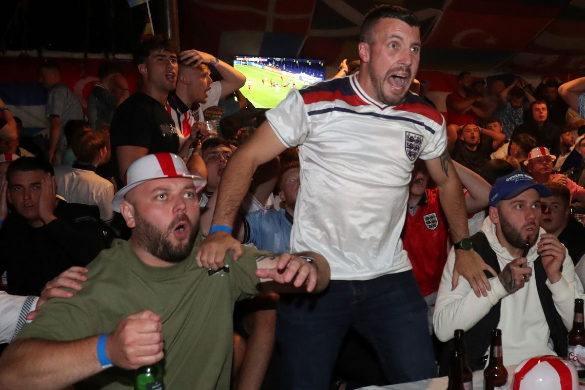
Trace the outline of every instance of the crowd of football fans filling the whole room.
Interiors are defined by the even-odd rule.
[[[486,85],[463,72],[443,118],[414,80],[417,23],[374,9],[361,62],[249,123],[206,116],[242,73],[159,36],[135,51],[140,91],[115,64],[99,68],[87,121],[59,67],[42,64],[44,148],[0,100],[2,341],[22,328],[0,383],[30,388],[50,372],[127,388],[129,369],[163,356],[173,388],[415,381],[448,373],[455,329],[483,369],[498,322],[505,364],[566,356],[585,282],[585,81]],[[393,54],[388,92],[372,48],[395,28],[408,57]],[[336,370],[347,361],[355,372]]]

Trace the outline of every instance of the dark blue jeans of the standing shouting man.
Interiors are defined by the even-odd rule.
[[[318,295],[283,295],[276,324],[281,389],[327,389],[350,327],[372,344],[389,384],[435,377],[427,310],[412,271],[331,281]]]

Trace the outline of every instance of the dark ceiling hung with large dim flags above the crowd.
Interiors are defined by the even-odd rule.
[[[161,6],[151,0],[155,32]],[[219,54],[357,58],[368,0],[177,0],[181,46]],[[585,0],[402,0],[421,20],[421,68],[576,73],[585,67]],[[146,20],[127,0],[3,5],[0,49],[130,53]]]

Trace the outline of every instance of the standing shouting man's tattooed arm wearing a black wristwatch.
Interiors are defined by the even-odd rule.
[[[457,243],[464,238],[469,238],[463,187],[449,152],[445,150],[441,157],[426,160],[425,162],[429,175],[431,175],[431,178],[439,188],[441,207],[447,217],[453,242]],[[455,251],[455,254],[453,288],[457,287],[457,281],[461,274],[470,282],[477,296],[480,293],[487,296],[487,291],[490,290],[490,282],[488,282],[483,271],[487,270],[495,276],[493,268],[484,263],[473,249],[459,249]]]

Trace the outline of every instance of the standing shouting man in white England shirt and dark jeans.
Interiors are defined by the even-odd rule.
[[[477,280],[477,294],[478,284],[489,288],[483,270],[493,270],[468,246],[445,120],[408,92],[420,59],[418,26],[400,6],[371,10],[360,34],[360,72],[292,89],[223,172],[211,234],[197,253],[214,269],[227,249],[241,255],[230,228],[252,172],[287,147],[299,147],[291,250],[316,248],[331,265],[332,281],[314,299],[281,298],[276,334],[284,389],[328,388],[350,327],[373,345],[388,382],[435,376],[426,303],[400,240],[418,157],[441,191],[457,269]]]

